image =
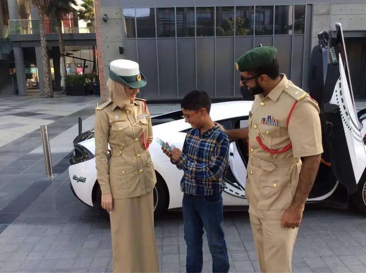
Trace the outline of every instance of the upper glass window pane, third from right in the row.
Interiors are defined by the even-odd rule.
[[[273,6],[255,7],[255,35],[273,34]]]

